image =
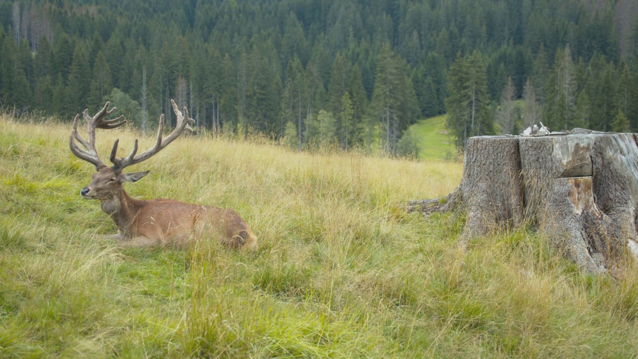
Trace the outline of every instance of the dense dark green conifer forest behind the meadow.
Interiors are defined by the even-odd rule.
[[[461,148],[638,131],[635,0],[0,0],[0,47],[3,108],[64,121],[108,100],[151,131],[173,98],[202,130],[389,152],[438,114]]]

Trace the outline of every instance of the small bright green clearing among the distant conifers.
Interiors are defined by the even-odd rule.
[[[454,139],[445,128],[445,115],[422,119],[410,126],[419,142],[419,158],[452,160],[456,157]]]

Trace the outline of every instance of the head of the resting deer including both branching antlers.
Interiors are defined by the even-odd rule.
[[[88,141],[85,141],[77,132],[78,119],[80,115],[75,115],[75,118],[73,119],[73,130],[71,130],[71,135],[69,137],[69,148],[75,156],[93,164],[97,171],[93,174],[91,183],[80,190],[80,195],[82,195],[82,197],[85,199],[100,200],[108,200],[117,197],[119,190],[122,187],[122,183],[138,181],[149,173],[149,171],[122,173],[122,170],[125,167],[147,160],[168,146],[170,142],[173,142],[184,130],[191,129],[189,123],[195,123],[195,120],[188,117],[188,110],[186,107],[184,107],[184,114],[182,115],[182,112],[177,109],[175,102],[171,100],[171,103],[173,105],[173,111],[177,115],[177,126],[175,127],[175,130],[173,130],[173,132],[171,132],[171,134],[167,137],[162,138],[164,130],[164,115],[162,114],[159,116],[159,126],[155,145],[151,149],[137,155],[138,146],[137,139],[135,139],[131,153],[129,153],[127,157],[122,158],[117,158],[117,144],[119,143],[119,139],[116,139],[109,157],[110,162],[113,164],[111,167],[105,165],[98,156],[98,151],[95,148],[95,129],[103,128],[108,130],[110,128],[116,128],[124,125],[124,123],[126,123],[126,119],[122,119],[122,116],[110,120],[105,119],[106,116],[115,111],[115,107],[108,110],[109,102],[107,102],[93,117],[90,117],[87,110],[84,110],[84,118],[87,121],[88,132]],[[80,148],[75,141],[80,142],[85,149]]]

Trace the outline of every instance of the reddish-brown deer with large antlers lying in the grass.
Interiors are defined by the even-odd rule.
[[[137,154],[138,139],[135,139],[129,155],[118,158],[119,139],[116,139],[109,157],[113,164],[110,167],[105,165],[98,156],[95,130],[96,128],[105,130],[117,128],[124,125],[126,119],[123,119],[123,116],[105,119],[116,109],[113,107],[108,110],[110,102],[107,102],[93,117],[84,110],[88,134],[85,140],[78,135],[77,126],[80,115],[75,115],[69,137],[69,148],[73,155],[93,164],[97,171],[93,174],[91,183],[80,190],[80,195],[84,199],[100,201],[101,210],[112,218],[117,227],[117,234],[107,234],[105,238],[116,240],[121,247],[184,246],[196,238],[201,239],[203,236],[212,235],[230,248],[255,250],[257,238],[235,210],[163,198],[134,199],[124,191],[122,187],[124,182],[137,182],[149,174],[149,171],[124,173],[122,172],[124,168],[151,158],[177,139],[184,130],[189,130],[189,123],[195,122],[188,117],[186,107],[182,114],[173,100],[171,103],[177,115],[177,125],[173,132],[163,137],[164,114],[161,114],[154,146]],[[77,142],[84,149],[78,146]]]

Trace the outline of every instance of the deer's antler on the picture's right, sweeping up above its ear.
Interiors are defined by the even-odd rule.
[[[181,135],[185,129],[192,131],[189,123],[195,123],[195,120],[188,117],[188,110],[186,109],[186,107],[184,107],[184,114],[182,115],[182,112],[179,111],[179,109],[177,108],[175,101],[170,100],[170,103],[173,105],[173,111],[175,112],[175,115],[177,115],[177,126],[175,126],[175,130],[173,130],[173,132],[171,132],[170,135],[168,135],[165,139],[162,139],[164,130],[164,115],[162,114],[161,116],[159,116],[158,134],[155,145],[151,149],[142,152],[137,156],[135,155],[137,153],[137,139],[135,139],[133,150],[131,150],[131,153],[129,153],[127,157],[115,157],[115,155],[117,155],[117,144],[119,143],[119,139],[116,139],[109,158],[110,161],[113,162],[112,169],[114,169],[114,171],[121,172],[124,167],[138,164],[144,160],[147,160],[148,158],[152,157],[152,155],[155,155],[163,148],[168,146],[170,142],[173,142],[173,140],[179,137],[179,135]]]

